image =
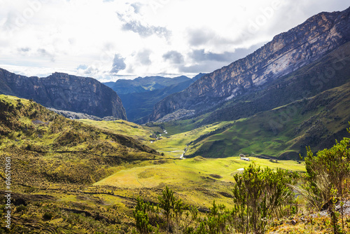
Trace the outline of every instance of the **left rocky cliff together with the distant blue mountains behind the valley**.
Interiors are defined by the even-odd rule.
[[[94,78],[59,72],[39,78],[0,69],[0,94],[34,99],[67,118],[126,120],[130,116],[131,121],[136,121],[150,114],[157,102],[188,88],[202,76],[146,76],[100,83]]]

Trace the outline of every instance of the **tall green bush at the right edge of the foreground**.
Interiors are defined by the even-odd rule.
[[[350,133],[350,128],[347,129]],[[349,193],[350,179],[350,138],[344,137],[330,149],[318,151],[316,156],[310,147],[305,158],[306,176],[302,191],[309,207],[316,210],[328,209],[333,233],[344,230],[344,200]],[[336,203],[341,207],[342,228],[338,225],[339,212]]]

